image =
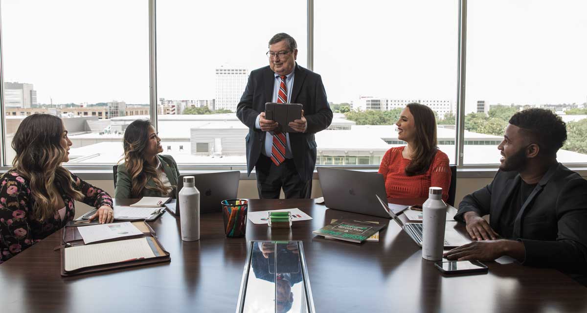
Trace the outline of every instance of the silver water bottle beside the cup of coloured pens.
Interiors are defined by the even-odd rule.
[[[200,240],[200,191],[194,186],[194,176],[184,176],[177,201],[181,208],[181,240]]]

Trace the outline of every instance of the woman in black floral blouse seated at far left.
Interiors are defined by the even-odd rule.
[[[48,114],[22,120],[12,139],[12,169],[0,177],[0,264],[73,220],[74,200],[99,208],[90,219],[110,223],[112,198],[61,166],[72,142]]]

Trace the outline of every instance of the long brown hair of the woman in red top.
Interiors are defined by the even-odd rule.
[[[434,112],[420,103],[407,105],[416,126],[416,140],[411,146],[411,161],[406,166],[406,175],[414,176],[426,173],[436,156],[436,117]]]

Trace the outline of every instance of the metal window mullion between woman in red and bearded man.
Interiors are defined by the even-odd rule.
[[[464,164],[465,136],[465,68],[467,62],[467,0],[460,0],[458,6],[458,77],[457,77],[457,167]]]

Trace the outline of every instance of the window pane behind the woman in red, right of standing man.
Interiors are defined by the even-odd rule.
[[[423,2],[314,2],[314,70],[335,112],[329,129],[316,134],[318,149],[357,158],[346,164],[379,165],[404,144],[394,124],[410,102],[431,107],[438,140],[454,142],[458,1]],[[440,149],[455,163],[454,143]]]

